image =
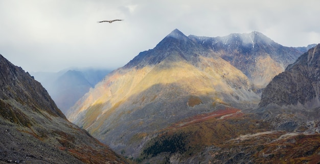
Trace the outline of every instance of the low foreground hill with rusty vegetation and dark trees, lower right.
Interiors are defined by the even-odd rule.
[[[269,114],[270,115],[270,114]],[[319,121],[287,113],[263,119],[226,108],[178,122],[150,139],[142,163],[318,163]],[[292,128],[289,120],[296,125]],[[287,127],[291,127],[288,129]]]

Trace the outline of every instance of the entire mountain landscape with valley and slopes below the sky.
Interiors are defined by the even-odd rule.
[[[319,63],[320,44],[177,29],[111,72],[0,56],[0,162],[318,163]]]

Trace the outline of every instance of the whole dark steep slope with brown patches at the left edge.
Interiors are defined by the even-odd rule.
[[[67,121],[41,84],[2,55],[0,77],[0,162],[126,162]]]

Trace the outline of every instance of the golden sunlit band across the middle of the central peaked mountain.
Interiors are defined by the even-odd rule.
[[[201,57],[199,64],[201,66],[196,67],[168,59],[139,70],[119,69],[87,93],[82,102],[78,102],[82,104],[78,111],[68,118],[76,121],[75,114],[94,105],[101,106],[104,109],[101,113],[105,113],[125,101],[146,105],[155,100],[169,98],[167,101],[170,101],[171,98],[190,95],[210,97],[207,101],[211,103],[240,105],[250,98],[258,98],[250,91],[246,76],[221,58]],[[142,96],[141,99],[138,95]]]

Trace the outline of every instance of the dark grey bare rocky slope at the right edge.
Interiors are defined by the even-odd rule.
[[[262,93],[260,107],[268,104],[314,108],[320,106],[320,45],[304,53],[273,78]]]

